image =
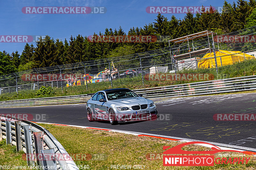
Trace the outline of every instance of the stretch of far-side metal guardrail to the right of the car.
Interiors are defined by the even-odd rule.
[[[256,89],[256,75],[133,90],[148,99],[208,95]]]

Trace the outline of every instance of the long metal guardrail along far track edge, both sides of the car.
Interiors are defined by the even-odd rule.
[[[212,81],[201,81],[195,83],[154,87],[147,89],[135,89],[133,91],[138,94],[142,94],[143,97],[148,99],[159,99],[180,96],[196,96],[215,93],[237,92],[255,89],[256,75],[252,75]],[[10,100],[0,102],[0,108],[86,103],[87,100],[91,98],[91,96],[92,94]]]

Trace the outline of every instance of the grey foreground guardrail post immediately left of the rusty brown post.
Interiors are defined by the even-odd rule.
[[[32,137],[31,137],[31,128],[30,125],[23,126],[24,128],[24,135],[25,135],[25,144],[26,144],[26,151],[27,151],[27,161],[28,165],[34,165],[34,154],[33,154],[33,144],[32,144]]]

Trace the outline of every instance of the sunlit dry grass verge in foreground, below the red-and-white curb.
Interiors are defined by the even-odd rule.
[[[90,160],[75,160],[77,165],[89,165],[93,170],[111,169],[111,165],[144,165],[145,169],[255,169],[256,158],[250,157],[248,164],[215,164],[214,166],[177,166],[165,167],[163,160],[148,160],[147,154],[163,153],[163,146],[176,146],[181,142],[164,139],[139,137],[113,131],[83,129],[71,126],[39,124],[48,129],[64,146],[68,153],[90,154]],[[206,151],[210,148],[189,145],[184,147],[188,151]],[[221,153],[221,152],[220,152]],[[226,152],[228,153],[228,152]],[[237,154],[229,152],[230,154]],[[100,155],[97,160],[95,155]],[[217,156],[217,155],[216,155]],[[99,158],[99,157],[98,157]],[[149,157],[150,158],[150,157]],[[215,157],[216,158],[216,157]],[[152,158],[153,159],[153,158]],[[84,168],[80,168],[84,169]],[[86,169],[86,168],[85,168]],[[112,168],[113,169],[113,168]],[[132,168],[133,169],[133,168]]]

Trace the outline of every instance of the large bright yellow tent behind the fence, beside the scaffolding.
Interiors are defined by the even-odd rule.
[[[218,67],[234,64],[236,62],[241,62],[244,60],[251,60],[255,59],[252,55],[242,53],[241,51],[225,51],[220,50],[216,51],[216,60]],[[239,54],[237,54],[239,53]],[[207,59],[210,58],[210,59]],[[215,59],[214,59],[214,53],[207,53],[204,55],[204,57],[200,60],[197,60],[197,66],[198,68],[213,68],[215,67]]]

